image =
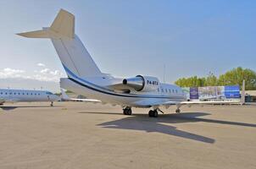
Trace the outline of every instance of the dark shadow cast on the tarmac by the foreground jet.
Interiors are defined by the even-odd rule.
[[[89,114],[111,114],[117,115],[116,113],[110,112],[80,112],[80,113],[89,113]],[[124,116],[123,114],[121,114]],[[237,122],[228,122],[222,120],[206,119],[201,118],[207,116],[209,113],[206,112],[184,112],[181,114],[164,114],[159,115],[158,118],[149,118],[147,114],[133,114],[130,117],[125,117],[119,120],[114,120],[107,123],[98,124],[103,128],[120,128],[120,129],[131,129],[131,130],[141,130],[146,132],[156,132],[160,134],[169,134],[184,139],[192,139],[199,142],[214,144],[214,139],[209,137],[204,137],[198,134],[192,134],[186,131],[182,131],[170,125],[164,125],[163,123],[191,123],[191,122],[205,122],[205,123],[219,123],[219,124],[229,124],[237,125],[244,127],[253,127],[256,128],[256,124],[250,123],[237,123]]]

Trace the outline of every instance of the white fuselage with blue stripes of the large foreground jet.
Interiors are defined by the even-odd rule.
[[[160,84],[159,88],[150,92],[131,90],[130,93],[109,89],[111,82],[119,81],[113,77],[81,79],[70,77],[60,79],[60,86],[74,91],[88,98],[97,99],[106,103],[120,106],[150,107],[161,105],[164,101],[186,101],[180,87],[176,85]]]

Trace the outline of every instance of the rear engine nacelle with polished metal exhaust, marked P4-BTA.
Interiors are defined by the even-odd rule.
[[[159,79],[152,76],[137,75],[135,78],[123,80],[123,85],[127,85],[136,91],[154,91],[159,88]]]

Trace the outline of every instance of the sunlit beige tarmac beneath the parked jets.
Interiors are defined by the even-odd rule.
[[[85,102],[0,108],[0,168],[256,168],[256,106],[149,109]]]

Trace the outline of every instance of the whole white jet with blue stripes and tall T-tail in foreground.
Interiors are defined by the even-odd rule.
[[[176,112],[180,112],[181,105],[202,103],[186,101],[186,96],[179,86],[160,83],[159,79],[153,76],[136,75],[120,79],[103,74],[79,37],[75,35],[75,16],[63,9],[59,11],[50,27],[18,35],[48,38],[53,42],[68,75],[68,78],[60,79],[62,88],[103,103],[120,105],[125,115],[131,115],[131,107],[152,107],[148,116],[158,117],[158,111],[162,112],[160,106],[169,108],[175,105]],[[213,102],[203,102],[207,103]]]

